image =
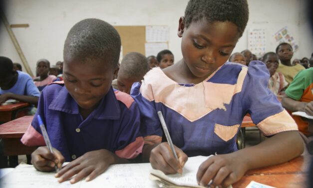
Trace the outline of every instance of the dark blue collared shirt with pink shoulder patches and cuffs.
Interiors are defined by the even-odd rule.
[[[21,138],[25,145],[45,145],[36,115],[41,116],[52,146],[66,161],[97,149],[107,149],[122,158],[134,158],[142,152],[137,104],[130,95],[112,87],[83,119],[63,81],[47,85],[41,92],[35,117]]]

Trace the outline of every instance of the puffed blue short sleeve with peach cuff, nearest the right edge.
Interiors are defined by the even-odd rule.
[[[298,130],[297,124],[268,88],[270,74],[261,61],[251,61],[242,90],[243,109],[265,135]]]

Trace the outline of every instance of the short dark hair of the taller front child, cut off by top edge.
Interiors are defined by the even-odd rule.
[[[242,36],[249,19],[248,2],[247,0],[189,0],[185,10],[185,27],[202,18],[210,23],[233,22]]]

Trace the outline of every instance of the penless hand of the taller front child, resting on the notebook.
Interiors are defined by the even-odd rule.
[[[230,154],[214,155],[202,162],[197,172],[197,181],[207,186],[212,179],[212,187],[228,187],[238,181],[248,170],[246,163]]]

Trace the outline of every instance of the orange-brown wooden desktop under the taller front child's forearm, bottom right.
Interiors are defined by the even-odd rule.
[[[249,170],[233,187],[246,187],[252,180],[275,187],[306,187],[312,157],[301,155],[282,164]]]

